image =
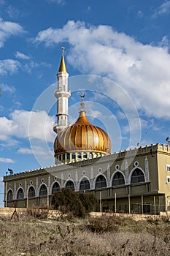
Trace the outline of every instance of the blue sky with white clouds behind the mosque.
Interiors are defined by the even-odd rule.
[[[166,143],[169,24],[170,1],[0,0],[0,176],[54,163],[62,46],[70,123],[85,91],[90,121],[107,130],[112,152]]]

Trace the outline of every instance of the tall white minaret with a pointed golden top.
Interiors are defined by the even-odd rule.
[[[56,133],[61,132],[68,126],[68,99],[71,95],[68,90],[68,78],[69,74],[66,70],[66,64],[64,61],[64,47],[62,49],[61,64],[58,69],[58,88],[55,91],[55,97],[57,98],[57,122],[55,123],[53,130]]]

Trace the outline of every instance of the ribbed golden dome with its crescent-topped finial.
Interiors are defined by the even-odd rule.
[[[72,126],[66,127],[58,134],[54,142],[55,157],[64,152],[98,152],[111,153],[111,141],[107,132],[90,124],[84,108],[85,102],[81,102],[80,116]]]

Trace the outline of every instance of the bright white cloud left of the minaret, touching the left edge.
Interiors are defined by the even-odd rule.
[[[53,117],[47,116],[45,111],[15,110],[10,118],[0,117],[0,140],[8,138],[34,138],[53,142]]]

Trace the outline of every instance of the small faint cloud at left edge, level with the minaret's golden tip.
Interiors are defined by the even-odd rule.
[[[0,75],[13,74],[18,72],[20,62],[13,59],[0,60]]]

